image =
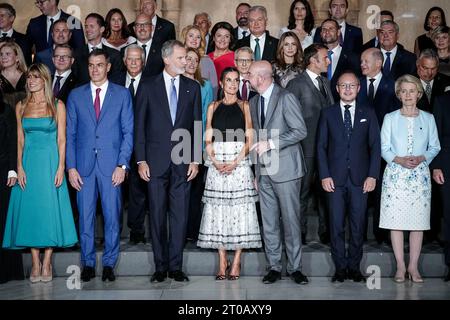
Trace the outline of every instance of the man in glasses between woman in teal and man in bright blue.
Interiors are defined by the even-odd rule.
[[[56,71],[53,74],[52,89],[54,97],[64,103],[67,102],[69,93],[77,83],[72,72],[74,61],[73,50],[68,44],[56,45],[53,52],[53,64]]]

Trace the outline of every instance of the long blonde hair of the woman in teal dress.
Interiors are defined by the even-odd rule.
[[[30,74],[38,74],[40,78],[44,81],[44,96],[45,96],[45,102],[47,103],[47,114],[50,114],[53,119],[56,120],[56,107],[55,107],[55,98],[53,97],[53,90],[52,90],[52,77],[50,75],[50,70],[48,67],[43,63],[35,63],[32,64],[27,71],[27,79]],[[27,85],[25,86],[27,96],[22,101],[22,110],[21,110],[21,116],[25,112],[26,107],[28,106],[32,93],[30,92],[30,89],[28,88],[28,80]]]

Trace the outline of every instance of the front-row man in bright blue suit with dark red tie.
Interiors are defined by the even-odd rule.
[[[108,81],[111,68],[103,50],[89,55],[91,82],[67,101],[67,170],[78,191],[82,281],[95,277],[95,209],[100,195],[105,224],[102,280],[114,281],[119,256],[121,183],[133,150],[133,105],[128,89]]]

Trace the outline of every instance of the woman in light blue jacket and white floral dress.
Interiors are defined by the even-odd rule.
[[[406,271],[414,282],[423,282],[418,261],[423,230],[430,229],[431,179],[428,165],[440,144],[433,115],[419,110],[423,87],[419,79],[404,75],[395,82],[402,102],[400,110],[387,114],[381,128],[381,155],[388,165],[383,175],[380,228],[391,230],[397,262],[394,281],[404,282]],[[403,231],[409,234],[409,264],[406,268]]]

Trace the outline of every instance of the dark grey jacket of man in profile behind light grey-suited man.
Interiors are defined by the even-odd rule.
[[[322,80],[327,93],[326,98],[316,88],[306,71],[289,81],[286,87],[300,101],[303,119],[308,130],[308,136],[302,140],[302,148],[305,157],[308,158],[316,155],[316,132],[319,125],[320,110],[334,104],[330,82],[325,77],[322,77]]]

